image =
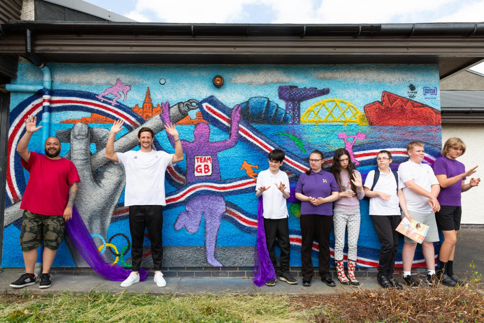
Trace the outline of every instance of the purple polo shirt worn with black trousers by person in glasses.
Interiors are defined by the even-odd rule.
[[[338,184],[333,174],[323,170],[315,173],[311,170],[311,175],[302,173],[296,185],[296,193],[306,196],[328,197],[332,192],[339,192]],[[318,214],[320,216],[333,215],[333,203],[323,203],[314,206],[311,202],[301,201],[301,214]]]

